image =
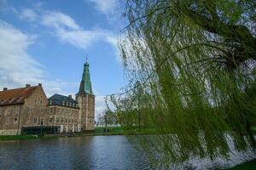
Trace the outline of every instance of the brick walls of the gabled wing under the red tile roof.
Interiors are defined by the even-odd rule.
[[[23,105],[0,106],[0,135],[20,134],[21,127],[44,124],[47,104],[44,90],[38,86]]]

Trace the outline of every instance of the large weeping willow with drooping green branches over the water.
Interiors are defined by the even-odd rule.
[[[112,100],[122,110],[119,101],[131,104],[142,94],[132,90],[141,82],[140,107],[162,135],[137,141],[155,162],[226,156],[228,142],[236,150],[255,146],[255,6],[253,0],[127,1],[130,23],[119,48],[131,90]]]

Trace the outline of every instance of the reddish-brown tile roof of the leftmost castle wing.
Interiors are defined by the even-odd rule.
[[[36,88],[38,88],[38,86],[0,91],[0,106],[24,104],[25,99],[28,98]]]

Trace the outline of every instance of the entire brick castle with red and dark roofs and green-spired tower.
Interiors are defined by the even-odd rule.
[[[86,61],[79,92],[47,99],[41,83],[0,91],[0,135],[75,133],[95,129],[95,95]]]

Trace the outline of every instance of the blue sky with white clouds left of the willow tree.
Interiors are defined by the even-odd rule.
[[[125,86],[117,39],[123,0],[0,0],[0,89],[43,84],[47,97],[79,90],[86,54],[96,94]]]

